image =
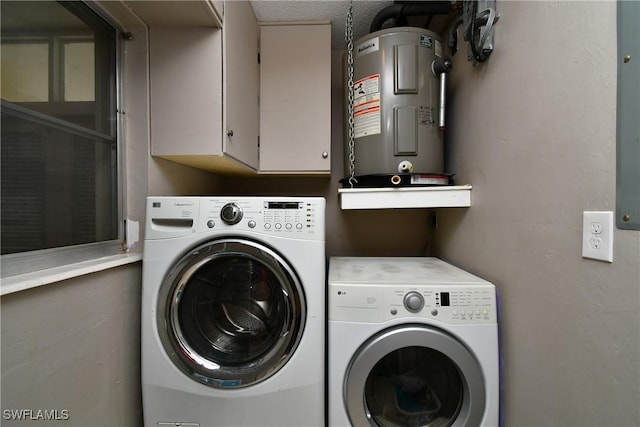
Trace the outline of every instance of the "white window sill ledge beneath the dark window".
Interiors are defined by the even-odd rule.
[[[142,254],[140,253],[111,255],[61,267],[4,277],[0,285],[0,295],[9,295],[74,277],[97,273],[98,271],[108,270],[110,268],[133,264],[141,260]]]

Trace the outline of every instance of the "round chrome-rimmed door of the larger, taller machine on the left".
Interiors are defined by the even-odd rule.
[[[158,329],[174,363],[212,387],[277,372],[302,335],[304,296],[291,267],[259,243],[225,239],[186,254],[166,277]]]

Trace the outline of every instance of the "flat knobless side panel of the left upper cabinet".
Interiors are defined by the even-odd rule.
[[[183,162],[221,155],[220,30],[152,27],[149,33],[151,154]]]

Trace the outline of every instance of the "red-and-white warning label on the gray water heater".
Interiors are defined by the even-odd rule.
[[[380,121],[380,74],[373,74],[353,82],[353,137],[379,134]]]

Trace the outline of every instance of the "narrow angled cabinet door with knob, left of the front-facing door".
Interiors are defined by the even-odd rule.
[[[258,168],[258,22],[248,1],[224,4],[226,155]]]

